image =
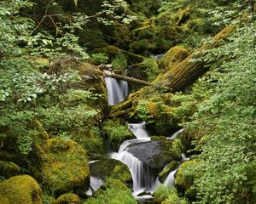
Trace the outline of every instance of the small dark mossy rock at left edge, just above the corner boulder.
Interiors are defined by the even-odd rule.
[[[20,167],[12,161],[0,161],[0,175],[10,178],[20,173]]]

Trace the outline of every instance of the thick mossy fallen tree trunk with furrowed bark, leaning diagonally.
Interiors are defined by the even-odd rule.
[[[138,100],[143,99],[146,94],[154,92],[155,87],[165,87],[168,88],[169,92],[175,93],[195,82],[198,77],[201,77],[207,71],[206,62],[196,59],[202,57],[202,51],[218,47],[222,42],[221,40],[228,37],[234,29],[235,26],[230,25],[219,31],[216,36],[212,37],[211,43],[202,45],[177,65],[168,67],[166,73],[157,77],[151,86],[142,88],[131,94],[126,101],[113,105],[109,116],[134,116]]]

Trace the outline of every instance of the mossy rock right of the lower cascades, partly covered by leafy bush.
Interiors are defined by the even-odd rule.
[[[182,165],[178,168],[174,184],[177,187],[179,192],[185,193],[189,199],[195,198],[195,190],[192,190],[190,187],[192,186],[195,176],[193,173],[189,172],[189,168],[195,167],[198,165],[199,161],[191,160],[185,161]]]

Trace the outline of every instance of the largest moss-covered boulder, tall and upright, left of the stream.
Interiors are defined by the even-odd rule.
[[[48,139],[41,162],[44,190],[61,195],[70,190],[83,194],[90,186],[90,171],[86,152],[71,139]]]

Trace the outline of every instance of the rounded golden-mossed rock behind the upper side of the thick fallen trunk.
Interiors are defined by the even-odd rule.
[[[166,69],[172,68],[188,56],[188,50],[180,46],[170,48],[161,60],[160,65]]]

